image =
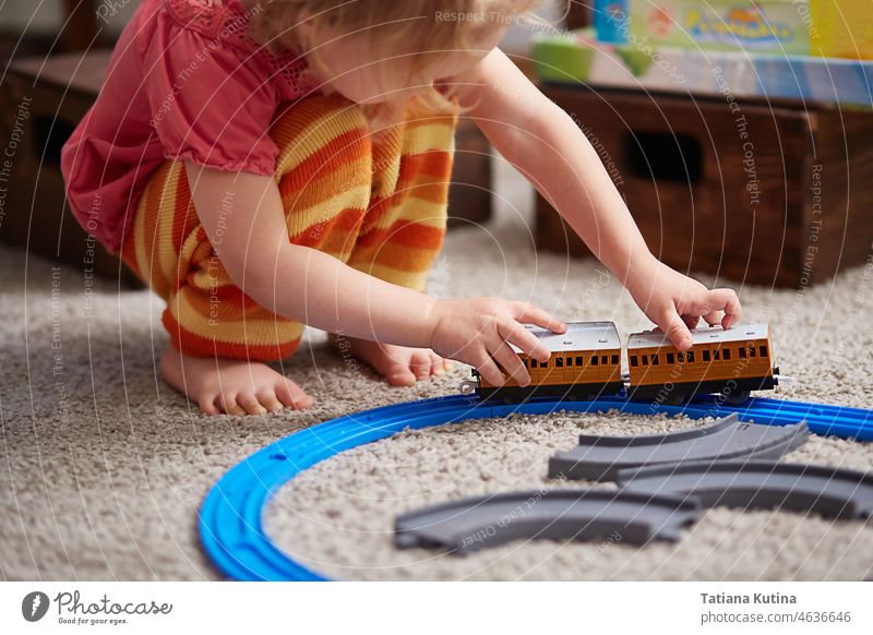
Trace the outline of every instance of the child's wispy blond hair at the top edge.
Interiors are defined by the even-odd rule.
[[[432,63],[441,51],[476,50],[483,29],[506,25],[540,0],[262,0],[249,35],[274,53],[296,51],[325,76],[331,70],[320,45],[331,35],[355,33],[369,38],[378,59],[397,55],[402,44],[416,43],[410,75]],[[304,28],[300,28],[306,24]],[[416,99],[424,107],[457,106],[454,91],[427,91]],[[404,105],[390,101],[366,108],[374,122],[396,120]],[[462,108],[458,108],[462,109]]]

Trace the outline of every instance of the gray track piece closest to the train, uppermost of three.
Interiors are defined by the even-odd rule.
[[[620,469],[730,458],[779,458],[806,442],[805,421],[794,426],[740,423],[737,415],[711,426],[666,434],[593,436],[583,434],[570,452],[549,459],[549,478],[614,480]]]

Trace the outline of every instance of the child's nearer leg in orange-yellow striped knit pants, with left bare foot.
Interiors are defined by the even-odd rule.
[[[372,180],[360,110],[344,99],[313,97],[278,118],[270,134],[282,149],[276,178],[291,242],[347,260]],[[166,161],[150,180],[122,257],[167,300],[162,321],[172,349],[162,369],[204,411],[253,414],[311,403],[260,363],[292,354],[303,325],[260,307],[230,281],[198,220],[182,163]]]

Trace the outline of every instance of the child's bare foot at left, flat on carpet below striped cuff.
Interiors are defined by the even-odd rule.
[[[167,348],[160,356],[160,372],[206,415],[266,415],[312,405],[300,386],[261,362],[189,357]]]

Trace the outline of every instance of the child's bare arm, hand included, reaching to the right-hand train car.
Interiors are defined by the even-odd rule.
[[[739,322],[733,290],[708,290],[649,252],[585,134],[501,50],[492,50],[469,74],[450,82],[464,86],[462,103],[474,105],[470,115],[494,147],[558,209],[679,348],[691,346],[686,325],[696,325],[701,315],[725,328]]]

